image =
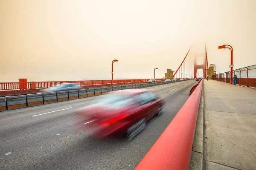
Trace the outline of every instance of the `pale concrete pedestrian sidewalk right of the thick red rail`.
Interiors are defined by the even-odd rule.
[[[256,89],[204,80],[206,170],[256,170]]]

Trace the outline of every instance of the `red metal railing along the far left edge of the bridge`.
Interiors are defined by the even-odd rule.
[[[137,83],[146,82],[149,79],[122,79],[113,80],[113,84],[124,84],[124,83]],[[156,79],[156,81],[164,81],[165,79]],[[82,86],[92,85],[108,85],[111,84],[111,80],[81,80],[81,81],[53,81],[53,82],[0,82],[0,91],[6,90],[26,90],[26,89],[38,89],[38,88],[49,88],[62,83],[78,83]],[[26,87],[26,88],[24,88]]]

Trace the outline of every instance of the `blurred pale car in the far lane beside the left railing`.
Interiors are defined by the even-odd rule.
[[[41,92],[55,92],[55,91],[71,91],[71,90],[79,90],[81,86],[76,83],[63,83],[60,85],[56,85],[52,88],[42,89]]]

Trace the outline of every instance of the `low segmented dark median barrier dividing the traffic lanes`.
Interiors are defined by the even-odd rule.
[[[185,80],[177,80],[171,82],[152,82],[152,83],[140,83],[130,85],[108,86],[101,88],[88,88],[73,91],[58,91],[47,92],[38,94],[27,94],[20,96],[6,96],[0,97],[0,111],[13,110],[18,108],[26,108],[36,105],[44,105],[54,102],[62,102],[72,99],[85,98],[90,96],[98,96],[107,94],[111,91],[132,89],[132,88],[146,88],[155,85],[169,84],[173,82],[180,82]]]

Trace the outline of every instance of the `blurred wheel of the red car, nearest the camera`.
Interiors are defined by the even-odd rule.
[[[146,127],[146,120],[145,118],[143,118],[139,122],[136,122],[134,125],[128,128],[126,137],[128,138],[128,140],[133,139],[145,127]]]

